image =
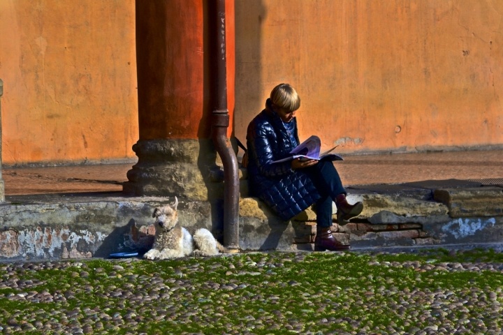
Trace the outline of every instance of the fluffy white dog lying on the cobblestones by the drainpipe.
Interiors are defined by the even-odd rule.
[[[196,230],[194,237],[189,231],[178,224],[178,199],[170,205],[154,209],[155,218],[154,245],[143,258],[148,260],[165,260],[189,255],[212,256],[226,248],[219,244],[210,230],[201,228]]]

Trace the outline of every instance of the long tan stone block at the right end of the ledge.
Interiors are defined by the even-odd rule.
[[[439,189],[434,197],[449,208],[452,218],[503,216],[503,190],[499,187]]]

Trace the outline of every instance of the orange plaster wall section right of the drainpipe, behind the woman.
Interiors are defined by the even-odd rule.
[[[289,82],[342,152],[503,144],[503,2],[236,0],[235,135]]]

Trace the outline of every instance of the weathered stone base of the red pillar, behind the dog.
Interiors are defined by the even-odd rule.
[[[210,181],[217,168],[211,140],[139,140],[138,163],[127,172],[129,195],[177,196],[194,200],[223,198],[223,184]]]

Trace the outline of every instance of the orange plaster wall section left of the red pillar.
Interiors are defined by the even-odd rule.
[[[134,23],[134,0],[0,1],[4,164],[135,157]]]

